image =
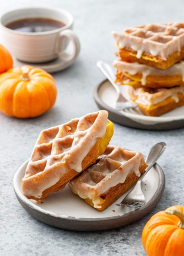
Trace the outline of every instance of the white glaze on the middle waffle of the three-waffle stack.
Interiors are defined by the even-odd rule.
[[[182,81],[184,81],[184,61],[181,60],[180,62],[174,64],[170,68],[166,70],[157,69],[154,67],[150,67],[138,62],[125,62],[121,60],[114,60],[113,67],[117,68],[122,73],[128,73],[130,75],[140,74],[142,76],[141,83],[143,86],[146,84],[146,77],[147,76],[181,76]],[[125,74],[126,75],[126,74]]]

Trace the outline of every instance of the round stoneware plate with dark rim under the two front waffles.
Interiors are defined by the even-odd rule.
[[[116,205],[123,200],[126,193],[100,212],[73,194],[68,186],[50,194],[41,202],[36,202],[29,200],[21,192],[21,179],[25,175],[27,164],[28,161],[22,164],[14,176],[14,190],[19,203],[39,221],[68,230],[107,230],[129,224],[148,214],[162,197],[165,188],[164,172],[158,164],[155,164],[143,179],[142,190],[146,204],[138,210]]]

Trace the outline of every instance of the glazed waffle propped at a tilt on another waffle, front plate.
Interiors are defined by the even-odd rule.
[[[107,117],[102,110],[42,131],[22,179],[22,193],[41,200],[95,163],[113,134]]]

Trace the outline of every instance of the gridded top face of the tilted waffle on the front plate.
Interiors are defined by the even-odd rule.
[[[84,139],[97,116],[98,113],[91,113],[43,130],[34,147],[25,178],[43,172],[54,164],[64,162],[66,154]]]

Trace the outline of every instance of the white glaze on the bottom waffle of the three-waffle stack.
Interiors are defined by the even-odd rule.
[[[137,96],[135,100],[136,103],[140,103],[143,105],[155,105],[159,102],[164,101],[165,99],[172,97],[175,102],[179,101],[178,93],[184,95],[184,87],[173,87],[173,88],[160,88],[156,89],[155,93],[145,92],[144,88],[137,88],[134,89],[133,87],[130,88],[133,94]]]

